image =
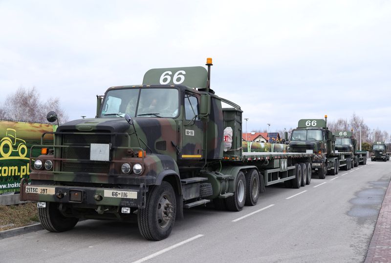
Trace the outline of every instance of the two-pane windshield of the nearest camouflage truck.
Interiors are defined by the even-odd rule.
[[[101,116],[174,118],[178,115],[179,92],[174,88],[131,88],[109,90]]]

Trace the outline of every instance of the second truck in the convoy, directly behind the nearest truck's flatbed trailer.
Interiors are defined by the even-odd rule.
[[[353,167],[350,153],[335,151],[335,136],[328,130],[323,119],[302,119],[298,127],[292,130],[289,151],[314,153],[312,170],[320,179],[326,174],[336,175],[339,169],[349,170]]]

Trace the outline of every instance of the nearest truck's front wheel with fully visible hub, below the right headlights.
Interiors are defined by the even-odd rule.
[[[137,223],[140,234],[147,240],[167,238],[173,230],[176,199],[173,186],[163,181],[147,192],[145,208],[138,209]]]

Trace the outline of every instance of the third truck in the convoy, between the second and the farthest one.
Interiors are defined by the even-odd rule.
[[[359,164],[367,164],[367,152],[357,150],[357,140],[353,137],[352,132],[337,131],[334,135],[336,152],[349,152],[354,167]]]

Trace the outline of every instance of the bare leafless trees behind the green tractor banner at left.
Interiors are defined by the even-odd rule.
[[[14,94],[7,96],[3,107],[0,109],[0,116],[3,112],[3,117],[7,120],[47,122],[46,114],[51,110],[57,112],[62,122],[67,120],[58,98],[42,102],[35,87],[30,89],[20,87]]]

